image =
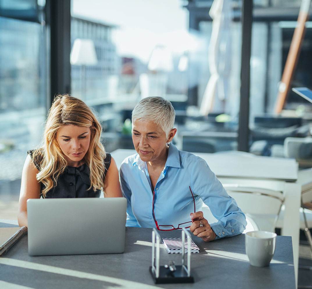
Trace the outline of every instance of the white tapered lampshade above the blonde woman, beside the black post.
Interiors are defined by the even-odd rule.
[[[98,60],[93,41],[91,39],[75,39],[70,59],[72,65],[97,64]]]

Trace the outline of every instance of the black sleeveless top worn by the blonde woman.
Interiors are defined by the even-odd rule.
[[[33,151],[27,152],[34,165],[40,171],[40,163],[33,158]],[[111,155],[106,153],[104,160],[105,175],[110,167]],[[67,166],[65,171],[58,177],[56,185],[46,193],[45,198],[98,198],[100,197],[101,190],[94,191],[89,187],[90,182],[90,169],[86,164],[78,167]],[[41,183],[41,192],[44,185]]]

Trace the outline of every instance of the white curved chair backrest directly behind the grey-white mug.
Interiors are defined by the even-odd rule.
[[[282,192],[238,184],[224,184],[223,186],[227,190],[227,193],[236,200],[239,208],[246,215],[251,216],[259,224],[259,227],[261,227],[261,219],[262,221],[270,222],[273,216],[273,223],[270,226],[266,224],[266,228],[270,228],[272,232],[274,231],[281,207],[284,203]]]

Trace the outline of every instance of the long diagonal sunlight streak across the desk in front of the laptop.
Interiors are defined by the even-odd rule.
[[[26,268],[26,269],[31,269],[31,270],[37,270],[37,271],[44,271],[44,272],[49,272],[49,273],[55,273],[55,274],[60,274],[60,275],[66,275],[66,276],[71,276],[71,277],[77,277],[77,278],[82,278],[82,279],[110,282],[110,283],[115,283],[120,288],[137,288],[137,289],[158,288],[153,285],[123,280],[123,279],[119,279],[115,277],[102,276],[98,274],[86,273],[86,272],[77,271],[77,270],[71,270],[71,269],[44,265],[44,264],[39,264],[39,263],[32,263],[29,261],[15,260],[15,259],[10,259],[10,258],[0,258],[0,264],[21,267],[21,268]],[[18,287],[18,289],[19,288],[20,287]],[[25,288],[28,288],[28,287],[25,287]],[[105,288],[116,289],[116,286],[105,287]]]

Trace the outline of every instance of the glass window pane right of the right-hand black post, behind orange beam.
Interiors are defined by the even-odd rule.
[[[310,148],[305,147],[305,153],[300,153],[302,147],[298,142],[304,142],[307,137],[311,137],[312,106],[291,90],[293,87],[312,89],[311,22],[306,23],[302,46],[298,50],[297,65],[289,66],[290,70],[293,70],[293,76],[283,110],[280,113],[276,112],[279,91],[282,91],[283,88],[283,85],[280,84],[297,26],[296,19],[300,4],[301,1],[270,1],[266,10],[262,10],[262,15],[266,14],[265,11],[271,11],[268,16],[261,17],[261,19],[255,17],[253,22],[250,152],[271,157],[294,157],[299,162],[299,167],[311,167]],[[254,14],[257,15],[256,6],[254,6]],[[290,56],[289,60],[293,57],[294,55]],[[286,74],[290,70],[288,69]],[[296,138],[296,143],[286,141],[293,137]],[[308,151],[309,153],[307,153]]]

